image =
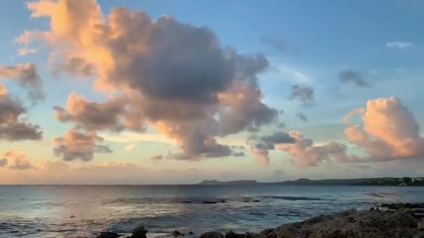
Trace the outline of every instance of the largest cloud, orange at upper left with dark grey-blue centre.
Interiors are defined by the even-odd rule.
[[[17,43],[42,40],[59,72],[96,77],[96,89],[116,95],[100,103],[70,95],[66,109],[55,107],[63,122],[95,131],[154,126],[181,148],[172,157],[197,160],[229,156],[216,137],[257,130],[278,116],[258,84],[266,57],[224,47],[206,27],[169,16],[155,21],[128,8],[113,8],[106,20],[92,0],[27,7],[31,17],[47,17],[50,30],[25,31]]]

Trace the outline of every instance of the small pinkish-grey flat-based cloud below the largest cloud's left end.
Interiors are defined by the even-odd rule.
[[[77,129],[70,129],[65,136],[54,138],[54,154],[64,161],[80,159],[90,161],[94,153],[112,153],[109,146],[98,145],[103,138],[96,132],[78,132]]]

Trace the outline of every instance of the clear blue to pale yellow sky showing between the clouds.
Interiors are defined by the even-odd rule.
[[[269,63],[268,68],[258,74],[263,102],[275,109],[284,110],[280,117],[286,127],[285,132],[301,131],[312,138],[316,145],[338,141],[346,143],[347,138],[342,118],[349,111],[365,107],[368,100],[379,97],[397,97],[415,116],[418,125],[424,124],[424,100],[422,88],[424,55],[424,32],[422,1],[97,1],[103,16],[111,8],[123,6],[131,10],[144,10],[154,20],[169,15],[183,24],[195,27],[206,26],[220,40],[222,46],[231,46],[241,54],[263,54]],[[33,62],[43,80],[46,98],[43,102],[31,105],[24,96],[25,90],[14,81],[0,79],[8,88],[10,95],[20,97],[27,106],[28,118],[43,128],[42,141],[0,141],[0,150],[22,148],[27,159],[34,164],[43,161],[61,161],[54,156],[50,141],[66,134],[73,122],[59,122],[54,118],[53,106],[66,106],[68,95],[77,92],[89,101],[104,102],[107,95],[91,86],[91,79],[70,79],[68,74],[60,77],[52,74],[47,67],[50,46],[30,43],[36,47],[36,54],[17,56],[19,45],[13,41],[25,30],[50,30],[49,18],[30,18],[31,11],[24,1],[0,1],[0,17],[3,22],[0,31],[0,65],[16,65]],[[343,70],[352,70],[369,87],[354,84],[342,84],[338,75]],[[291,100],[292,86],[310,87],[314,90],[311,105],[304,106],[298,100]],[[299,120],[296,113],[304,113],[308,121]],[[264,125],[257,134],[266,135],[275,132],[275,125]],[[107,161],[135,164],[146,170],[173,169],[177,172],[185,168],[204,172],[206,177],[222,180],[252,178],[258,180],[292,179],[296,177],[362,177],[377,175],[404,175],[411,164],[419,163],[419,158],[381,163],[366,163],[370,169],[360,170],[351,164],[329,164],[300,168],[290,159],[290,154],[278,150],[271,151],[271,165],[264,166],[249,176],[243,175],[241,166],[247,171],[255,171],[257,163],[250,152],[243,158],[225,157],[218,159],[198,159],[196,161],[176,161],[163,159],[151,161],[149,157],[166,154],[168,150],[179,150],[178,143],[167,140],[158,130],[149,126],[146,133],[162,136],[152,141],[145,136],[137,137],[134,132],[124,131],[114,134],[98,131],[105,143],[114,150],[112,154],[94,154],[91,161],[75,159],[67,161],[66,166],[98,166]],[[123,140],[124,135],[129,139]],[[250,132],[239,132],[218,138],[228,145],[245,145]],[[418,132],[419,134],[419,132]],[[112,137],[119,137],[116,140]],[[112,139],[109,139],[112,138]],[[124,142],[122,142],[124,141]],[[133,145],[131,145],[133,144]],[[133,150],[126,151],[130,145]],[[245,145],[247,147],[247,145]],[[348,146],[349,147],[349,146]],[[349,147],[350,148],[350,147]],[[358,150],[357,148],[353,149]],[[419,156],[418,156],[419,157]],[[391,166],[395,164],[395,166]],[[326,173],[328,166],[337,166],[343,172]],[[340,168],[339,168],[340,167]],[[331,167],[333,168],[333,167]],[[398,168],[398,169],[395,169]],[[8,170],[8,168],[0,168]],[[218,171],[213,173],[211,171]],[[275,177],[275,171],[284,171]],[[423,170],[411,173],[420,175]],[[17,173],[32,173],[10,170],[4,181],[14,181]],[[47,173],[47,172],[46,172]],[[408,172],[409,173],[409,172]],[[34,175],[35,176],[35,175]],[[167,175],[160,180],[164,182]],[[274,177],[273,177],[274,176]],[[19,176],[18,176],[19,177]],[[177,176],[180,182],[193,182],[201,175]],[[150,180],[149,180],[150,181]],[[142,182],[142,181],[141,181]],[[165,182],[166,183],[166,182]]]

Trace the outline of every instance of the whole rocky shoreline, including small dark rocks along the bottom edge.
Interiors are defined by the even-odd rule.
[[[135,228],[131,238],[146,238],[144,225]],[[174,237],[195,235],[172,232]],[[120,235],[103,232],[98,238],[116,238]],[[127,236],[128,237],[128,236]],[[278,228],[262,230],[258,234],[232,231],[222,235],[205,232],[199,238],[424,238],[424,203],[385,204],[369,211],[356,209],[315,216],[296,223],[285,223]]]

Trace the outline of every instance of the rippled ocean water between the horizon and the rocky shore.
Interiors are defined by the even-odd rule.
[[[424,187],[342,186],[0,186],[0,237],[148,237],[172,230],[259,232],[340,209],[422,202]]]

